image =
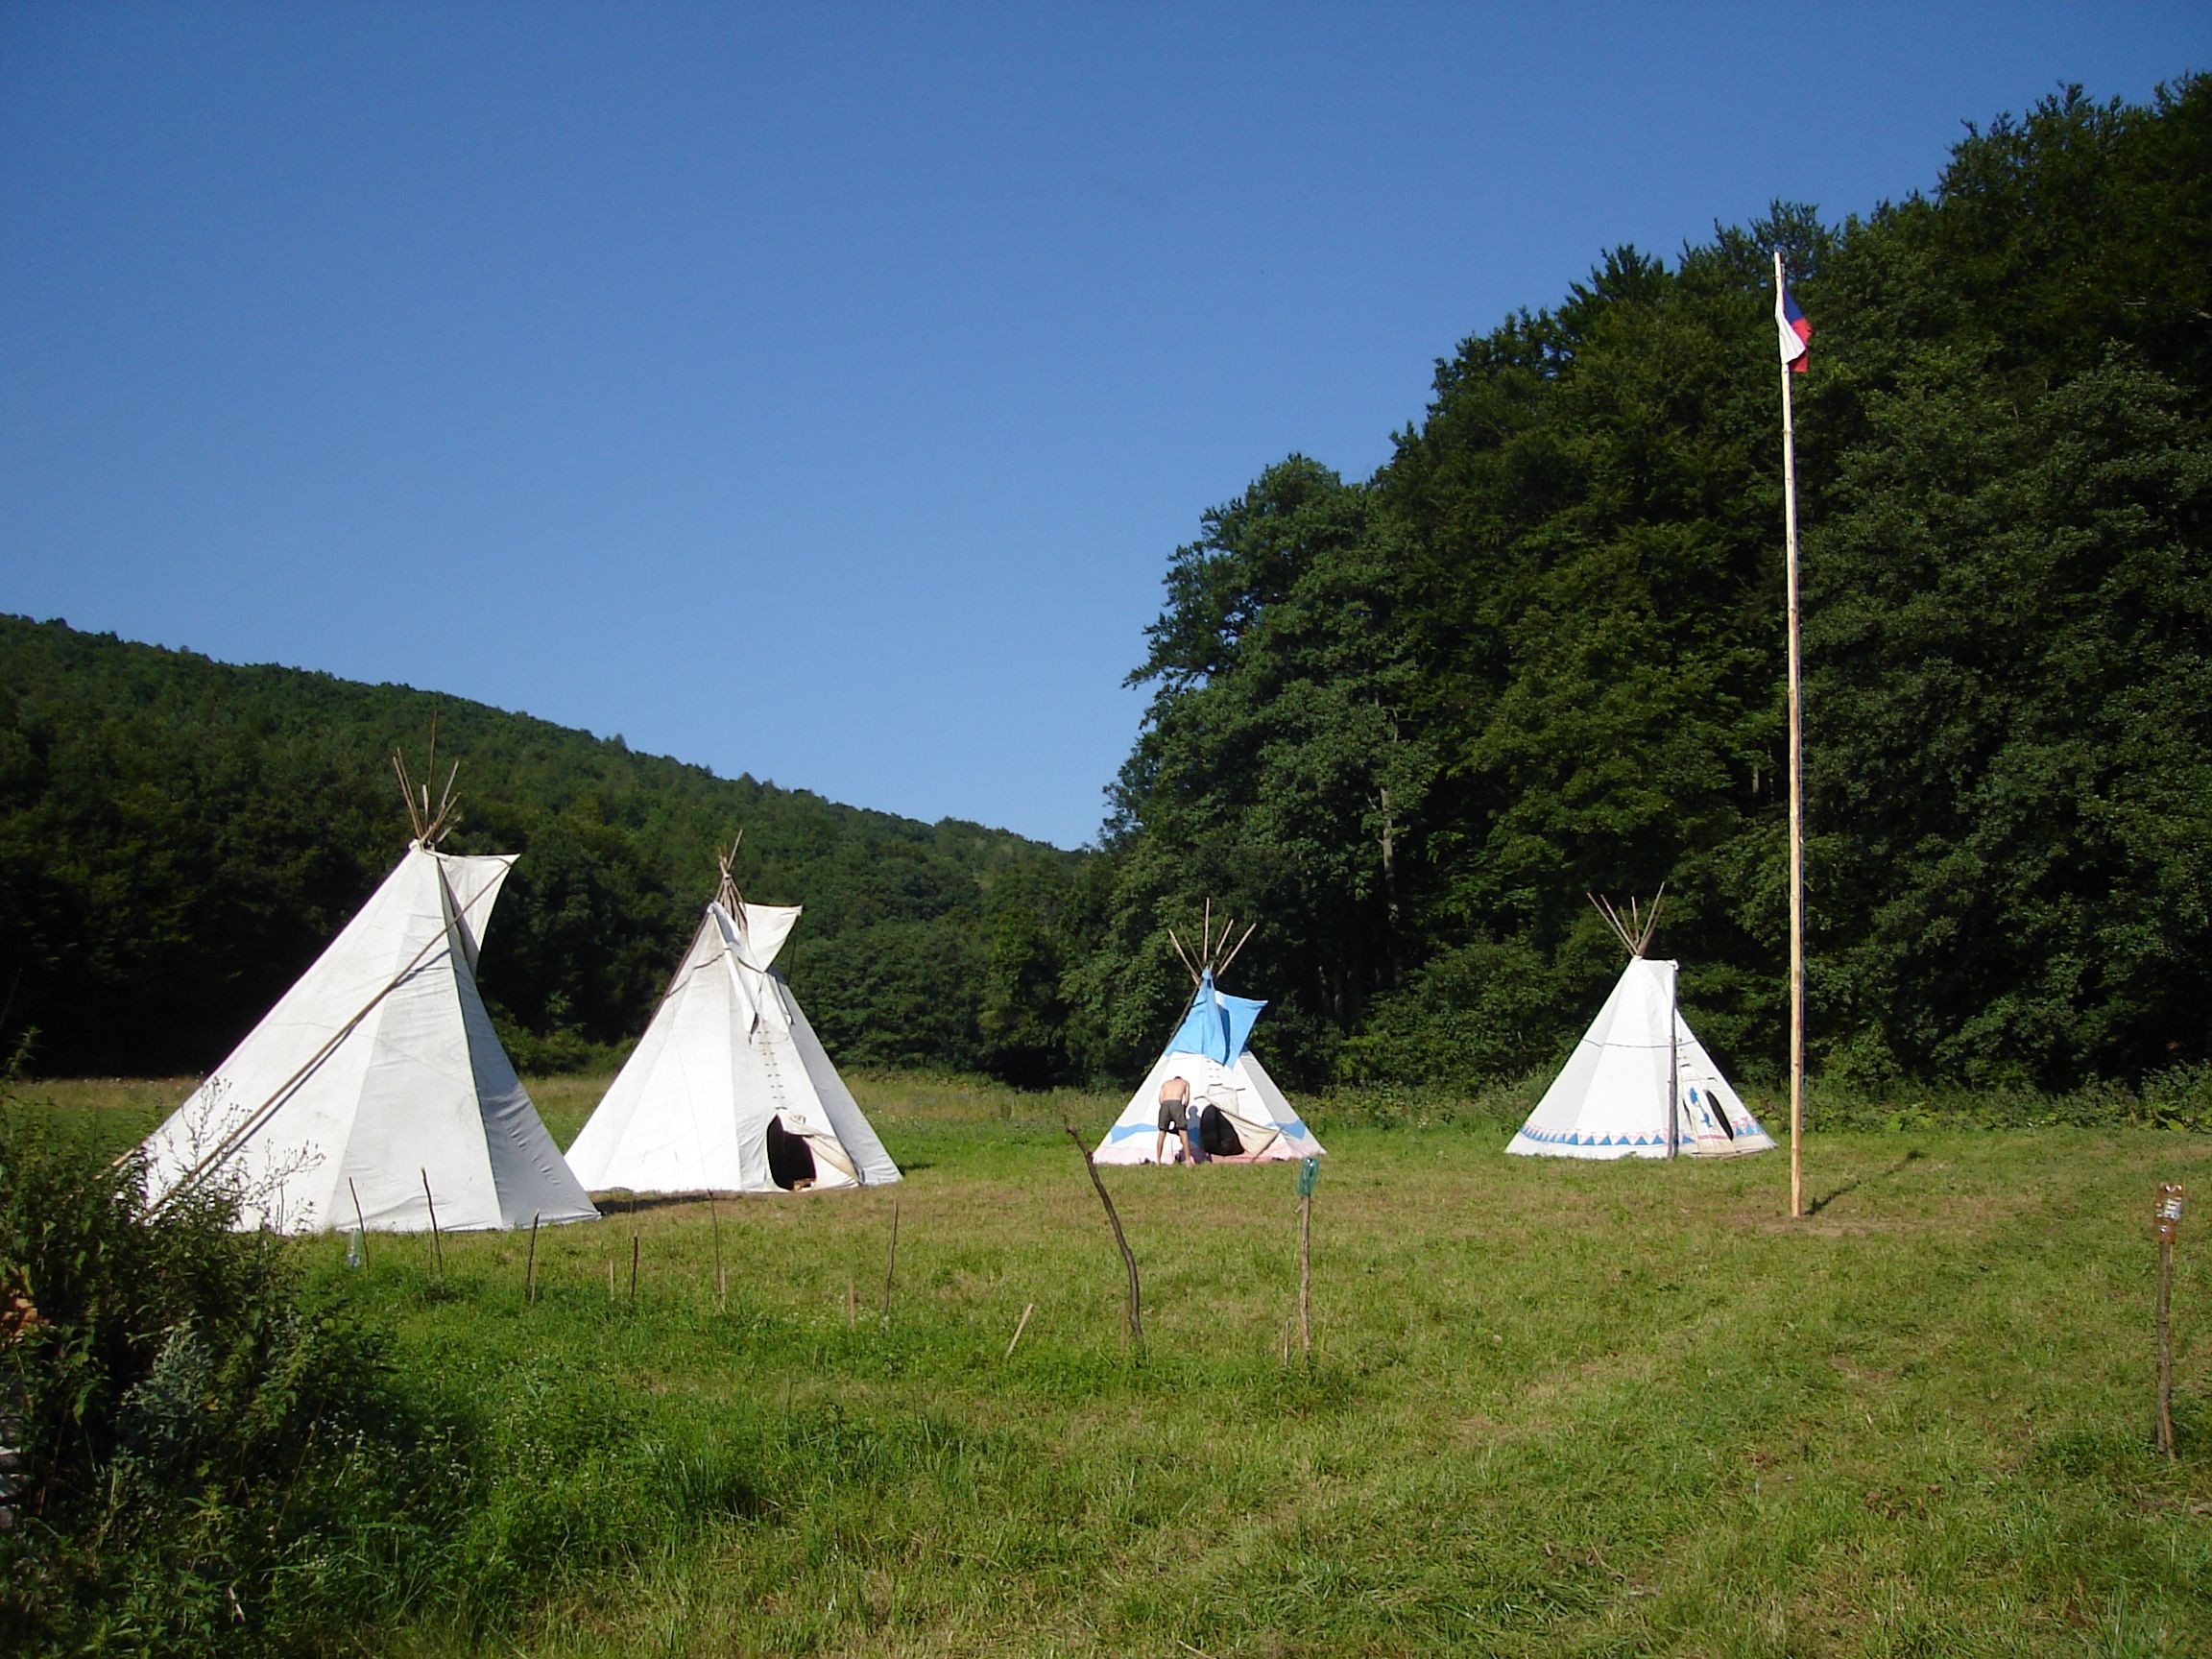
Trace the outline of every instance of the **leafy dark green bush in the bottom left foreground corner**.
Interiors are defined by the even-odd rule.
[[[467,1500],[385,1338],[234,1214],[0,1097],[0,1648],[356,1650]]]

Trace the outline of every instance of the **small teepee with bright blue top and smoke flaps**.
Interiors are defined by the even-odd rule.
[[[1225,920],[1221,922],[1221,933],[1214,936],[1212,905],[1208,905],[1199,931],[1197,960],[1175,938],[1175,931],[1168,931],[1168,940],[1175,945],[1177,956],[1183,958],[1183,967],[1190,971],[1197,989],[1190,995],[1190,1006],[1181,1024],[1168,1037],[1166,1053],[1152,1064],[1144,1082],[1137,1084],[1137,1093],[1130,1095],[1128,1106],[1121,1108],[1113,1128],[1106,1130],[1106,1139],[1091,1155],[1095,1164],[1155,1164],[1175,1159],[1181,1150],[1177,1137],[1170,1135],[1166,1146],[1159,1146],[1159,1091],[1170,1077],[1188,1082],[1190,1097],[1199,1106],[1221,1108],[1228,1128],[1243,1148],[1234,1155],[1234,1161],[1272,1164],[1323,1155],[1321,1141],[1314,1139],[1314,1133],[1298,1119],[1292,1104],[1283,1099],[1283,1091],[1274,1086],[1274,1077],[1267,1075],[1259,1057],[1245,1046],[1252,1035],[1252,1022],[1259,1020],[1259,1011],[1267,1004],[1250,998],[1232,998],[1214,987],[1214,975],[1225,971],[1237,958],[1237,951],[1252,938],[1256,922],[1217,962],[1214,958],[1221,956],[1232,927],[1234,922]],[[1155,1148],[1159,1150],[1157,1157]]]

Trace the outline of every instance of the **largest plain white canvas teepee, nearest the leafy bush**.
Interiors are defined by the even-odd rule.
[[[438,852],[394,757],[414,843],[338,938],[144,1144],[153,1203],[230,1183],[241,1228],[526,1228],[597,1214],[568,1172],[476,989],[513,856]]]

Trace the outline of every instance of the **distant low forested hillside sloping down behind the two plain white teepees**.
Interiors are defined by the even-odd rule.
[[[520,852],[482,984],[526,1066],[635,1037],[743,830],[741,885],[803,902],[785,967],[860,1064],[1022,1075],[989,1004],[1000,914],[1068,854],[630,754],[405,686],[0,617],[0,1042],[40,1071],[204,1071],[407,845],[394,748],[460,763],[453,852]],[[1006,1033],[1004,1040],[989,1035]]]

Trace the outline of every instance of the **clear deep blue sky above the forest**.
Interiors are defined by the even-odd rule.
[[[1365,478],[1608,246],[1865,212],[2208,44],[2203,0],[9,4],[0,611],[1079,845],[1206,507]]]

